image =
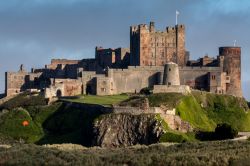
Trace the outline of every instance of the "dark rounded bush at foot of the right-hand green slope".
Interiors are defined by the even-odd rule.
[[[227,123],[218,124],[214,131],[217,140],[233,139],[238,135],[238,131]]]

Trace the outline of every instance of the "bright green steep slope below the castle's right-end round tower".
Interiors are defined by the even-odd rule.
[[[203,131],[213,131],[219,123],[228,123],[238,131],[250,131],[247,110],[242,98],[205,92],[194,92],[177,105],[177,114]]]

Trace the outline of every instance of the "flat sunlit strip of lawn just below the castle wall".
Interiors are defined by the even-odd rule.
[[[77,103],[112,106],[114,104],[118,104],[124,100],[127,100],[128,98],[129,96],[127,94],[110,95],[110,96],[84,95],[84,96],[79,96],[76,99],[63,99],[63,100],[70,102],[77,102]]]

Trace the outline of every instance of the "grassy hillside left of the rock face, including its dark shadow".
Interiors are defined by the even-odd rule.
[[[72,108],[62,102],[46,105],[40,97],[30,94],[21,94],[1,108],[2,137],[37,144],[76,143],[87,146],[91,141],[92,122],[101,114],[99,111]],[[24,121],[29,124],[24,126]]]

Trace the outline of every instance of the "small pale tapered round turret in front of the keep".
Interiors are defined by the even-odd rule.
[[[176,63],[165,64],[163,85],[180,85],[179,67]]]

